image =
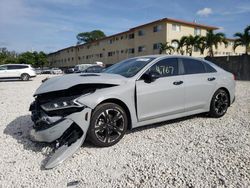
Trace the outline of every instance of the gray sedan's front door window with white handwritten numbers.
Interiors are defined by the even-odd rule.
[[[158,72],[161,77],[178,75],[178,60],[176,58],[167,58],[160,60],[147,72]]]

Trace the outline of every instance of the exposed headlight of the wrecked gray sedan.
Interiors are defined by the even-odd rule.
[[[41,105],[41,108],[45,111],[62,110],[66,108],[83,108],[84,105],[77,101],[78,96],[63,97],[52,102],[48,102]]]

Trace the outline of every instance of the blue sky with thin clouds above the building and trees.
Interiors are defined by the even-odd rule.
[[[164,17],[232,37],[250,25],[250,0],[0,0],[0,47],[53,52],[75,45],[79,32],[111,35]]]

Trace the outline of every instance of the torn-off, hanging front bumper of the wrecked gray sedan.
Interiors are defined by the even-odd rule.
[[[34,102],[30,106],[33,129],[30,137],[38,142],[56,142],[54,154],[46,169],[54,168],[75,153],[83,144],[89,128],[91,109],[84,107],[65,116],[49,116]]]

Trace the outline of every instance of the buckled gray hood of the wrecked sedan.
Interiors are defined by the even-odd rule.
[[[34,96],[53,91],[65,90],[78,84],[113,84],[121,85],[127,78],[118,74],[89,73],[69,74],[49,78],[36,90]]]

